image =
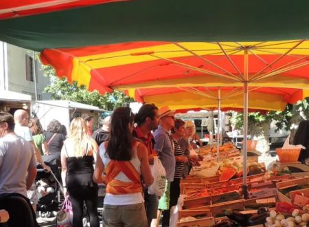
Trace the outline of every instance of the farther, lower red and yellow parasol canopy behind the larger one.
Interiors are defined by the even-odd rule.
[[[165,87],[128,89],[126,94],[138,102],[155,103],[170,109],[217,109],[220,89],[221,110],[243,110],[242,87]],[[249,87],[249,111],[282,111],[286,104],[295,104],[309,97],[309,90],[290,88]]]

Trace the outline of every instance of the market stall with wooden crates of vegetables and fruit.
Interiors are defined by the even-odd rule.
[[[249,197],[244,199],[243,159],[239,153],[228,156],[235,153],[233,144],[220,148],[218,162],[211,148],[198,149],[204,159],[181,181],[177,226],[307,225],[309,175],[293,177],[286,169],[266,171],[263,163],[249,158]]]

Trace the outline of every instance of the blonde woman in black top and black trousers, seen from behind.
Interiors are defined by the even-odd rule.
[[[82,227],[84,202],[87,206],[90,226],[99,227],[98,184],[93,182],[93,162],[98,145],[87,131],[82,118],[74,118],[61,150],[61,177],[65,195],[71,199],[73,226]]]

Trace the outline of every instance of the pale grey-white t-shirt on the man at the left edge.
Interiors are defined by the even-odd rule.
[[[27,197],[27,173],[35,167],[30,142],[12,134],[0,138],[0,194],[19,193]]]

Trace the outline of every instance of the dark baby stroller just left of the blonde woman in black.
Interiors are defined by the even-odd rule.
[[[37,171],[38,215],[40,217],[51,217],[56,215],[64,198],[60,179],[55,175],[55,171],[58,171],[58,169],[51,169],[47,173],[42,166],[38,166]]]

